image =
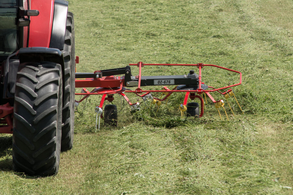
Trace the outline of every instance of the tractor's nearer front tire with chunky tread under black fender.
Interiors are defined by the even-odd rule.
[[[28,175],[59,169],[62,126],[62,70],[52,62],[18,67],[13,115],[12,162]]]

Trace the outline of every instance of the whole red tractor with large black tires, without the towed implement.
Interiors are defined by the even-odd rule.
[[[0,1],[0,133],[13,133],[13,167],[58,172],[72,147],[74,20],[64,0]]]

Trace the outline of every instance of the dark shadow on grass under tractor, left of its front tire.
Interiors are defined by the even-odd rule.
[[[12,136],[0,137],[0,170],[12,170]]]

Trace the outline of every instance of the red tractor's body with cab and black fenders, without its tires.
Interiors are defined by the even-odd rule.
[[[20,8],[25,11],[38,10],[39,14],[23,15]],[[64,82],[62,50],[67,14],[68,1],[64,0],[0,2],[0,123],[7,124],[1,125],[0,133],[12,133],[13,112],[11,111],[14,104],[16,75],[21,63],[41,61],[58,63],[62,67]],[[21,19],[29,20],[29,25],[20,25]],[[10,120],[7,122],[4,118]]]

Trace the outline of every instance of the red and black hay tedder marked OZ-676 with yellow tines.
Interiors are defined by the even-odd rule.
[[[139,68],[139,75],[133,76],[131,74],[130,66],[137,66]],[[141,70],[144,66],[191,66],[193,68],[198,68],[198,74],[195,73],[194,70],[190,70],[189,73],[186,75],[168,75],[168,76],[142,76]],[[229,86],[221,87],[221,88],[214,88],[211,86],[206,85],[204,82],[202,82],[202,74],[201,70],[204,66],[212,66],[216,68],[221,68],[227,71],[231,71],[234,73],[239,74],[239,82],[236,84],[232,84]],[[119,76],[116,76],[119,75]],[[105,123],[108,123],[109,125],[115,126],[117,125],[117,107],[115,105],[106,105],[104,108],[104,116],[102,116],[103,113],[103,104],[104,101],[107,100],[109,102],[113,101],[113,95],[114,94],[120,94],[127,103],[131,106],[131,110],[139,110],[139,102],[131,103],[128,97],[125,95],[125,93],[134,93],[139,97],[142,97],[144,102],[147,99],[152,99],[152,103],[156,104],[158,107],[161,105],[161,102],[164,100],[168,100],[168,97],[174,93],[174,92],[185,92],[185,98],[182,104],[180,104],[180,111],[181,115],[183,116],[183,112],[187,112],[189,116],[198,116],[202,117],[204,112],[204,100],[202,97],[202,94],[206,95],[214,102],[215,107],[219,111],[219,108],[223,108],[226,114],[227,119],[228,115],[226,113],[226,110],[224,108],[224,101],[221,99],[219,101],[214,100],[210,92],[219,92],[220,94],[224,95],[228,102],[229,96],[234,96],[235,100],[237,101],[234,92],[232,89],[229,89],[225,92],[221,92],[220,90],[231,88],[237,85],[241,84],[241,72],[236,70],[231,70],[228,68],[224,68],[217,65],[211,65],[211,64],[144,64],[142,62],[139,62],[137,64],[129,64],[129,66],[126,66],[124,68],[115,68],[115,69],[108,69],[108,70],[98,70],[94,73],[75,73],[75,87],[76,88],[82,88],[81,93],[76,93],[75,95],[82,95],[84,96],[79,101],[76,100],[76,106],[83,101],[84,99],[87,99],[90,95],[102,95],[102,99],[100,101],[100,105],[96,106],[96,112],[97,117],[98,114],[100,114],[101,118],[105,118]],[[145,86],[160,86],[163,85],[162,90],[143,90],[141,87]],[[172,90],[170,90],[166,85],[175,85]],[[94,87],[94,89],[89,92],[86,88],[87,87]],[[127,88],[126,88],[127,87]],[[136,89],[128,89],[129,87],[135,87]],[[156,97],[152,97],[151,92],[162,92],[166,96],[163,99],[159,99]],[[195,95],[197,94],[197,95]],[[107,96],[107,97],[106,97]],[[195,102],[187,103],[188,98],[191,100],[194,100],[195,98],[200,100],[200,113],[199,113],[199,105]],[[238,103],[238,101],[237,101]],[[229,104],[229,102],[228,102]],[[238,103],[239,105],[239,103]],[[229,104],[229,107],[231,109],[231,106]],[[239,105],[239,108],[241,109],[241,106]],[[232,111],[232,109],[231,109]],[[242,109],[241,109],[242,111]],[[232,111],[233,115],[234,112]],[[220,118],[221,114],[219,111]]]

